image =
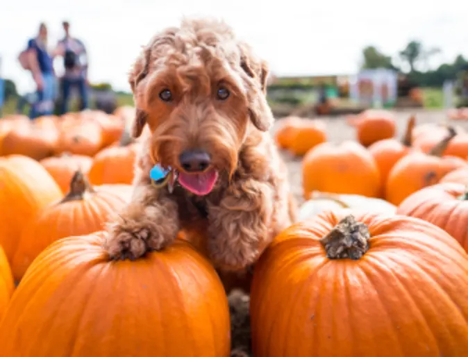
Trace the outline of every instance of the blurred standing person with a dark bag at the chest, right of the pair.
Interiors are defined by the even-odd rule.
[[[87,53],[83,42],[70,35],[69,22],[62,22],[62,26],[65,31],[65,38],[58,42],[54,56],[62,56],[65,67],[65,74],[60,83],[62,91],[60,114],[65,114],[69,110],[72,88],[78,88],[81,110],[88,108]]]

